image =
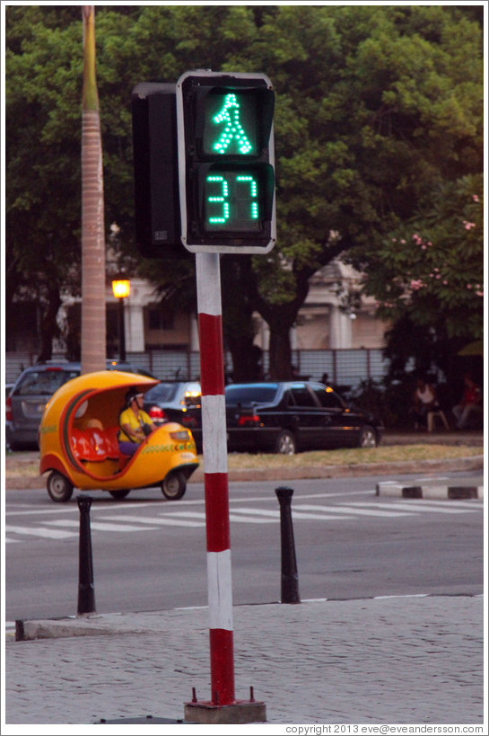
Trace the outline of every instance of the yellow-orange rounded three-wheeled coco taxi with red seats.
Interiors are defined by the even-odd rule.
[[[117,499],[131,489],[160,486],[176,500],[198,466],[189,430],[177,422],[162,424],[146,437],[133,457],[118,448],[118,415],[129,388],[144,394],[153,378],[102,370],[67,381],[46,404],[40,428],[40,473],[48,473],[53,501],[68,501],[74,487],[101,489]]]

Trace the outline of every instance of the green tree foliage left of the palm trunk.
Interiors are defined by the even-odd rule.
[[[78,11],[77,26],[70,24],[63,33],[53,15],[39,7],[7,13],[6,305],[24,294],[39,302],[41,359],[51,355],[62,289],[74,294],[79,289],[74,264],[79,261],[80,131],[58,145],[60,124],[69,127],[81,100],[81,55],[80,64],[74,56],[74,45],[82,48]],[[61,88],[65,115],[58,106]],[[79,112],[77,117],[79,122]]]

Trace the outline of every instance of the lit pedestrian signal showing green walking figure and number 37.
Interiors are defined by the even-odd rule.
[[[180,76],[181,239],[191,253],[268,253],[274,247],[274,102],[263,74]]]

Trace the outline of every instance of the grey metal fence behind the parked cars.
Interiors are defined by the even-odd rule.
[[[11,384],[24,368],[33,366],[37,356],[29,352],[5,353],[5,383]],[[63,356],[53,356],[53,360]],[[149,370],[162,380],[195,380],[200,376],[200,355],[196,350],[149,350],[127,353],[127,362]],[[226,373],[232,374],[231,353],[224,355]],[[311,380],[327,380],[333,386],[358,386],[367,379],[381,380],[389,368],[382,350],[293,350],[293,366],[297,375]],[[263,368],[268,373],[268,353],[263,354]]]

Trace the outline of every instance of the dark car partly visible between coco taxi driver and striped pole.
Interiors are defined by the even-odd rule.
[[[144,411],[155,424],[178,421],[191,430],[196,447],[202,451],[200,384],[197,381],[162,381],[144,395]]]

